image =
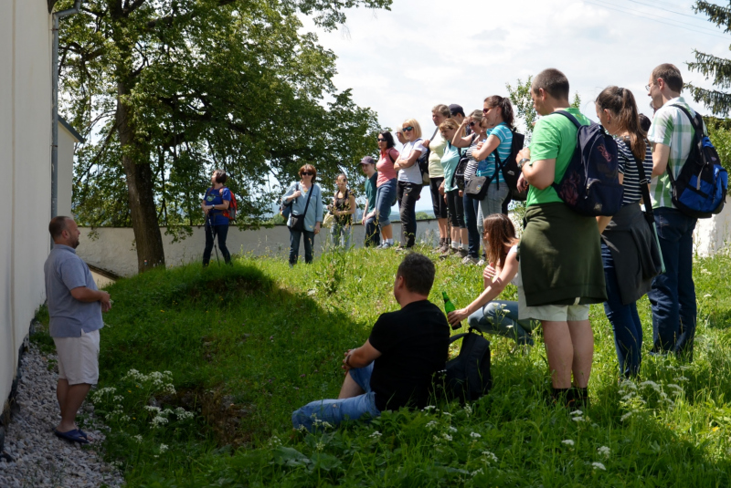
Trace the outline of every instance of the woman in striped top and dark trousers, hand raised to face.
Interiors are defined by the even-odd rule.
[[[479,161],[474,158],[472,151],[477,149],[477,144],[487,139],[485,120],[482,118],[482,110],[474,110],[469,117],[462,120],[460,128],[454,133],[451,145],[462,149],[467,148],[465,152],[468,163],[464,170],[465,184],[471,180],[477,173]],[[466,137],[462,137],[467,128],[472,133]],[[462,243],[458,253],[462,258],[463,265],[476,265],[478,263],[478,254],[480,253],[480,234],[477,231],[477,211],[480,202],[472,200],[466,193],[462,194],[462,202],[464,203],[464,220],[467,224],[468,243]]]

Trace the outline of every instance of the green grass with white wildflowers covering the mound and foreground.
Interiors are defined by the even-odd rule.
[[[603,308],[592,306],[591,407],[582,415],[546,406],[540,337],[527,355],[491,337],[494,389],[469,408],[440,401],[370,424],[292,431],[291,411],[336,396],[344,350],[397,308],[399,259],[356,250],[291,270],[281,259],[245,257],[233,267],[155,270],[111,286],[100,388],[115,390],[95,395],[111,426],[107,456],[130,486],[150,487],[731,484],[726,255],[694,265],[694,363],[645,354],[636,390],[620,389],[611,328]],[[441,305],[444,290],[467,304],[481,273],[438,263],[431,300]],[[503,293],[515,295],[512,286]],[[647,300],[639,307],[647,351]]]

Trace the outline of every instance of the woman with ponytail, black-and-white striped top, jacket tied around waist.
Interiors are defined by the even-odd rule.
[[[643,183],[637,165],[641,164],[645,177],[650,178],[652,152],[629,89],[604,89],[596,100],[596,109],[601,125],[617,140],[620,182],[624,187],[620,212],[612,217],[597,217],[597,222],[607,283],[604,311],[614,329],[620,375],[630,378],[637,376],[641,364],[642,324],[637,300],[650,290],[653,277],[650,270],[654,269],[654,241],[640,207]]]

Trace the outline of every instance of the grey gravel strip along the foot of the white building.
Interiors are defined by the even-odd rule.
[[[53,435],[53,428],[60,421],[56,400],[58,368],[49,371],[49,360],[55,361],[56,355],[43,354],[33,344],[23,356],[17,392],[20,411],[13,415],[5,433],[5,452],[15,461],[0,459],[0,487],[121,486],[119,470],[104,462],[93,447],[104,439],[97,427],[101,422],[84,428],[95,441],[84,448]],[[87,404],[82,409],[93,410]]]

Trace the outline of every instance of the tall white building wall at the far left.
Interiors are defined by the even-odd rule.
[[[0,402],[45,300],[49,249],[51,18],[45,0],[5,0],[0,16]],[[0,409],[2,404],[0,403]]]

